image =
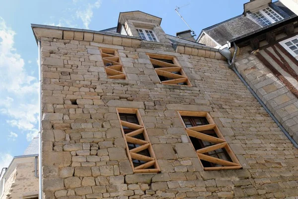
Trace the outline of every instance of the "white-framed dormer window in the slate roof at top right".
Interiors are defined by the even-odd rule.
[[[283,19],[281,15],[279,15],[276,11],[274,11],[270,7],[262,8],[252,14],[257,18],[257,22],[262,27],[266,25],[270,25],[272,23],[275,23]]]

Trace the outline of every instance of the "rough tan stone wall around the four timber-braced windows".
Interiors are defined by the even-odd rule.
[[[298,196],[298,150],[225,61],[143,41],[109,45],[128,79],[110,80],[98,50],[106,44],[41,40],[44,199]],[[176,56],[192,87],[159,84],[146,52]],[[132,173],[116,107],[139,109],[161,173]],[[203,171],[177,110],[209,111],[243,169]]]

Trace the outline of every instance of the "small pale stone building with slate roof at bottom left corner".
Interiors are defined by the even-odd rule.
[[[38,199],[38,138],[0,174],[0,199]]]

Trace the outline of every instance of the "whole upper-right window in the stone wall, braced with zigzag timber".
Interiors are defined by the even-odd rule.
[[[175,57],[149,53],[147,55],[161,84],[191,86],[189,79]]]

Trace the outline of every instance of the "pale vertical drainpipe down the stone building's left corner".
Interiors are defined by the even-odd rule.
[[[41,107],[41,41],[38,40],[38,59],[39,59],[39,127],[38,127],[38,148],[39,148],[39,161],[38,161],[38,173],[39,173],[39,199],[42,199],[42,153],[41,153],[41,116],[42,116],[42,107]]]

